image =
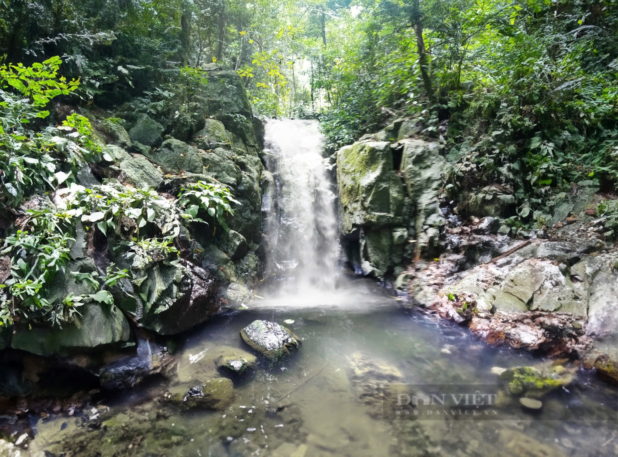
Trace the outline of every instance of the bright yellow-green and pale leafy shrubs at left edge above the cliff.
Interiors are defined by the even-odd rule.
[[[51,98],[78,86],[57,77],[60,64],[60,58],[51,58],[32,67],[0,67],[0,206],[17,206],[35,190],[71,181],[82,164],[97,157],[90,122],[83,116],[69,116],[58,128],[30,126],[49,115],[41,108]]]

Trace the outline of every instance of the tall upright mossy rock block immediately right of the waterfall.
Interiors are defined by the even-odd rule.
[[[430,254],[445,222],[439,194],[449,166],[437,142],[409,134],[400,119],[336,153],[346,260],[363,275],[399,275]]]

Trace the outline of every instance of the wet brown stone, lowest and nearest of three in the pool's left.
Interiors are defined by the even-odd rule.
[[[226,409],[234,399],[234,384],[228,378],[214,378],[187,388],[179,385],[167,396],[182,409]]]

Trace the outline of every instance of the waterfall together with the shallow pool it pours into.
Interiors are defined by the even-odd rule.
[[[404,309],[393,291],[338,269],[334,189],[317,123],[269,121],[266,136],[276,201],[268,221],[268,278],[256,291],[261,298],[182,336],[171,381],[155,379],[107,396],[82,416],[38,421],[31,450],[88,457],[618,453],[614,390],[583,371],[534,414],[514,405],[506,420],[384,420],[379,385],[389,378],[491,385],[497,382],[492,367],[543,361],[487,346],[463,328]],[[281,364],[260,360],[255,374],[235,378],[235,398],[224,411],[182,411],[162,401],[169,385],[220,376],[209,354],[221,346],[247,350],[239,331],[255,319],[293,320],[289,328],[302,338],[302,348]],[[582,405],[602,420],[564,420],[564,411]]]

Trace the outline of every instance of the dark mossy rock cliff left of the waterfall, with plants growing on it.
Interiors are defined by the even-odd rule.
[[[252,299],[251,288],[260,272],[263,166],[258,152],[263,122],[253,112],[236,72],[211,66],[192,75],[190,82],[190,90],[180,98],[133,100],[114,111],[70,108],[90,119],[102,159],[80,171],[81,187],[61,188],[49,197],[38,195],[25,202],[24,209],[53,205],[54,211],[68,211],[77,192],[86,195],[82,199],[93,195],[111,207],[114,202],[133,201],[132,196],[143,199],[145,216],[135,221],[127,217],[132,211],[128,203],[106,210],[118,215],[107,225],[101,225],[106,221],[101,211],[82,215],[67,245],[68,264],[46,288],[45,299],[94,300],[76,308],[78,313],[68,323],[22,318],[12,328],[0,328],[0,349],[63,356],[69,364],[78,354],[89,354],[78,365],[109,377],[104,351],[120,351],[117,357],[133,363],[136,357],[143,359],[139,349],[135,352],[136,345],[150,345],[151,335],[180,333],[221,309]],[[193,189],[195,183],[229,191],[236,200],[232,211],[226,215],[213,210],[184,223],[187,214],[174,210],[178,204],[174,202],[180,189]],[[152,240],[161,239],[168,229],[174,236],[153,245]],[[109,278],[109,271],[124,270],[127,273],[109,283],[111,296],[88,295],[90,278]],[[157,358],[165,352],[154,343],[151,349],[146,351],[148,360],[140,362],[145,372],[156,372]]]

